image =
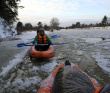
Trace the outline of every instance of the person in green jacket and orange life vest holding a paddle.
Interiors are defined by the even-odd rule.
[[[39,35],[35,37],[34,43],[35,43],[35,48],[38,51],[41,50],[46,51],[49,48],[50,44],[54,45],[54,43],[50,40],[50,38],[45,34],[43,28],[39,30]],[[39,44],[47,44],[47,45],[39,45]]]

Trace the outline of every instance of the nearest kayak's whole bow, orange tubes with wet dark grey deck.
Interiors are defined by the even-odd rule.
[[[78,66],[65,61],[44,80],[37,93],[100,93],[103,88]]]

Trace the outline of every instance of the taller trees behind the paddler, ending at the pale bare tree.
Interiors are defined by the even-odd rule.
[[[23,25],[23,23],[19,21],[16,25],[16,29],[17,29],[18,34],[20,34],[22,31],[38,30],[40,28],[44,28],[45,30],[51,30],[51,29],[59,30],[60,29],[59,24],[60,24],[59,19],[53,17],[50,20],[50,25],[47,25],[47,24],[43,25],[42,22],[38,22],[36,26],[32,26],[31,23],[25,23]]]

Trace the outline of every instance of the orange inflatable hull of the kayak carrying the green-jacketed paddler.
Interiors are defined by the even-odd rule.
[[[54,56],[54,47],[53,45],[50,45],[50,47],[46,51],[37,51],[35,46],[31,46],[30,48],[30,58],[41,58],[41,57],[46,57],[50,58]]]

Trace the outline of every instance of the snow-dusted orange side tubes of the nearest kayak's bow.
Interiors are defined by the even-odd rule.
[[[59,68],[64,67],[65,64],[61,64],[59,65],[48,77],[47,79],[44,80],[43,84],[41,85],[38,93],[52,93],[52,88],[55,85],[55,77],[57,75],[57,72],[59,70]],[[80,71],[83,75],[85,75],[86,77],[89,78],[91,85],[93,85],[94,87],[94,93],[98,93],[95,91],[100,90],[100,86],[91,78],[89,77],[83,70],[81,70],[79,67],[77,67],[75,64],[71,63],[71,68],[77,69],[78,71]],[[58,79],[57,79],[58,80]],[[55,89],[56,90],[56,89]],[[93,92],[92,91],[92,92]]]

